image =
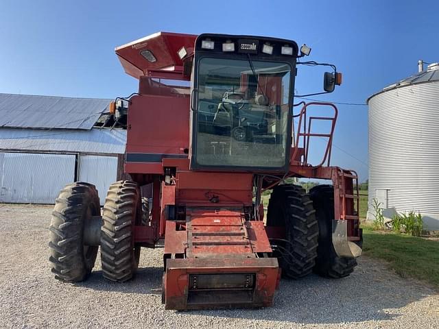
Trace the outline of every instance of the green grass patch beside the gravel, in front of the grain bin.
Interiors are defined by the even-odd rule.
[[[403,278],[416,278],[439,289],[439,241],[363,226],[363,252],[386,260]]]

